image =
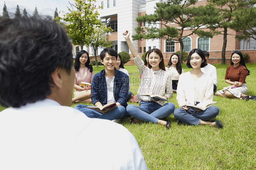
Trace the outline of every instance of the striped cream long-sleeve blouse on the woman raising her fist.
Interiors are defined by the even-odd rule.
[[[150,93],[158,94],[160,96],[167,96],[170,98],[172,96],[172,82],[170,73],[160,69],[154,71],[149,69],[144,65],[143,60],[137,55],[133,57],[135,64],[138,66],[138,70],[141,73],[141,83],[138,89],[138,94],[140,93]],[[166,91],[165,91],[166,90]],[[141,102],[152,101],[150,97],[138,96],[136,99]],[[164,101],[157,101],[161,106],[164,105]]]

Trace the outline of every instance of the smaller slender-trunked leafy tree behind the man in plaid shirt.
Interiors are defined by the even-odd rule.
[[[102,25],[100,28],[95,27],[95,29],[93,30],[93,33],[90,35],[90,46],[93,47],[94,50],[94,57],[95,57],[95,61],[97,61],[97,57],[96,57],[96,51],[98,49],[98,47],[111,47],[111,41],[107,41],[106,36],[104,36],[104,34],[106,34],[107,32],[113,31],[111,29],[111,27],[106,27],[106,25]],[[96,62],[96,67],[98,67],[98,63]]]

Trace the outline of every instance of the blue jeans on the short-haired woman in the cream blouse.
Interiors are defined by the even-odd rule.
[[[188,111],[177,108],[174,110],[173,115],[176,119],[189,125],[198,125],[200,120],[210,120],[219,114],[219,108],[217,106],[210,106],[206,110],[196,112],[190,108]]]

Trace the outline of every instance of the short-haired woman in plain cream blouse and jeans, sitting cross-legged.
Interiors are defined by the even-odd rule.
[[[173,112],[178,124],[181,122],[190,125],[211,125],[222,128],[219,120],[209,122],[216,117],[219,109],[210,106],[204,111],[186,107],[186,104],[204,106],[213,101],[213,79],[201,71],[206,66],[205,55],[200,49],[193,49],[188,55],[187,67],[192,68],[190,72],[179,76],[177,88],[177,101],[179,108]]]

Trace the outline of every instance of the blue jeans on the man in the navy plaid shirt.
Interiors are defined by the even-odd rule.
[[[95,109],[88,108],[87,106],[88,105],[77,104],[74,108],[83,112],[87,117],[107,120],[119,119],[126,114],[126,110],[123,106],[117,106],[114,109],[103,114]]]

